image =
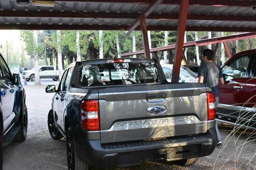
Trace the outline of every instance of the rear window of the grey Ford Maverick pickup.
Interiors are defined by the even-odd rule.
[[[111,63],[82,65],[80,85],[111,86],[159,83],[154,63]]]

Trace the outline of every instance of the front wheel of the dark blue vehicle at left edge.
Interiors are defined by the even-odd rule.
[[[14,141],[23,142],[25,141],[26,136],[27,136],[27,106],[26,106],[26,103],[24,103],[24,106],[22,109],[22,123],[20,126],[20,130],[18,130],[18,133]]]

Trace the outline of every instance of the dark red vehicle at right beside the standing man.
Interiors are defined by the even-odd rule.
[[[237,53],[221,68],[218,119],[256,129],[256,50]]]

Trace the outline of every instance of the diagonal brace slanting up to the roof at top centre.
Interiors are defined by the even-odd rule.
[[[159,5],[161,4],[163,0],[155,0],[154,3],[148,5],[145,10],[140,13],[140,15],[135,19],[135,21],[128,27],[128,32],[127,34],[132,33],[132,31],[137,28],[140,24],[140,20],[142,18],[148,17],[148,15]]]

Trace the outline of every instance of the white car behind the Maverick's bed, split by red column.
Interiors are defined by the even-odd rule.
[[[168,82],[171,82],[173,64],[161,64],[165,77]],[[190,69],[181,66],[179,83],[198,83],[197,74]]]

